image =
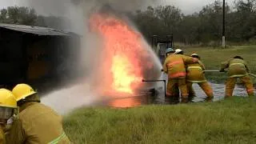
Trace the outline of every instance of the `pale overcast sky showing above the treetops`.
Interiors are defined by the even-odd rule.
[[[26,0],[0,0],[0,7],[7,7],[7,6],[28,6],[29,3],[25,2]],[[34,2],[42,1],[43,0],[33,0]],[[52,0],[54,1],[54,0]],[[182,12],[185,14],[194,13],[202,8],[202,6],[206,6],[207,4],[214,2],[214,0],[156,0],[160,4],[171,4],[174,6],[178,6],[182,9]],[[25,2],[25,3],[24,3]],[[232,5],[234,0],[226,0]],[[43,3],[42,3],[43,4]],[[43,6],[34,7],[38,13],[51,13],[50,11],[45,11]],[[47,14],[48,15],[48,14]]]

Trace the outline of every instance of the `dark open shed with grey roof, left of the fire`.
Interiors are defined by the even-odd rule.
[[[78,34],[38,26],[0,24],[0,85],[58,82],[76,70]]]

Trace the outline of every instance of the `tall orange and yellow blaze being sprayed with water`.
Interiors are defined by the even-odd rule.
[[[153,64],[141,34],[126,22],[109,14],[94,14],[90,30],[103,41],[100,74],[102,87],[111,94],[134,94],[142,86],[145,70]]]

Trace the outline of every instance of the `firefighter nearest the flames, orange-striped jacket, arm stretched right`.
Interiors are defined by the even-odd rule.
[[[186,87],[186,64],[198,62],[198,58],[187,57],[182,54],[174,54],[174,50],[169,48],[166,50],[168,55],[164,64],[163,70],[168,74],[168,85],[166,90],[167,96],[174,96],[173,89],[178,84],[178,89],[181,91],[182,98],[188,98]]]

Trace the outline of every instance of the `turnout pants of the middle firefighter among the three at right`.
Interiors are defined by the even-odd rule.
[[[187,89],[191,96],[195,96],[194,89],[193,89],[193,82],[186,82]],[[202,88],[208,98],[214,97],[214,91],[209,85],[208,82],[199,82],[198,85]]]

